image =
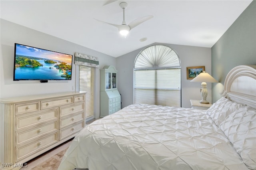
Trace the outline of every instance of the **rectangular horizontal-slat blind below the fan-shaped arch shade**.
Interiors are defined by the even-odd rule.
[[[181,107],[181,69],[134,70],[134,104]]]

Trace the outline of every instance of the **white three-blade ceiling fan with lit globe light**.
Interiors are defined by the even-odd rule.
[[[121,3],[119,4],[119,6],[123,9],[123,22],[122,22],[121,25],[118,25],[118,24],[111,24],[111,23],[108,23],[108,22],[104,22],[104,21],[97,20],[97,19],[95,19],[95,18],[94,18],[94,19],[97,20],[97,21],[99,21],[99,22],[103,22],[103,23],[105,23],[105,24],[110,24],[110,25],[112,25],[112,26],[117,27],[118,30],[119,30],[119,33],[120,33],[122,36],[126,37],[127,34],[129,33],[129,31],[132,30],[132,28],[138,26],[138,25],[141,24],[142,22],[145,22],[145,21],[149,20],[150,18],[153,18],[153,16],[144,16],[144,17],[141,17],[141,18],[138,18],[138,19],[132,21],[130,24],[127,25],[126,22],[125,22],[125,19],[124,19],[124,16],[125,16],[125,15],[124,15],[124,13],[125,13],[125,8],[127,7],[127,5],[128,5],[128,4],[127,4],[126,2],[121,2]]]

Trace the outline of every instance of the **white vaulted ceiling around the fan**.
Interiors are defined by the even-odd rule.
[[[1,0],[1,18],[118,57],[146,45],[171,43],[212,47],[252,0],[125,0],[125,20],[153,15],[126,38],[117,0]],[[140,42],[140,38],[148,38]]]

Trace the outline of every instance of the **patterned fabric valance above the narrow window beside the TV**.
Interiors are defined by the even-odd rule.
[[[99,68],[98,57],[93,57],[90,55],[75,52],[74,61],[75,61],[76,65],[84,65],[84,66],[88,66],[88,67]]]

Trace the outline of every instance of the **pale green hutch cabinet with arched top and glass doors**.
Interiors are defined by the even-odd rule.
[[[121,95],[117,89],[117,70],[112,65],[100,69],[100,117],[121,109]]]

